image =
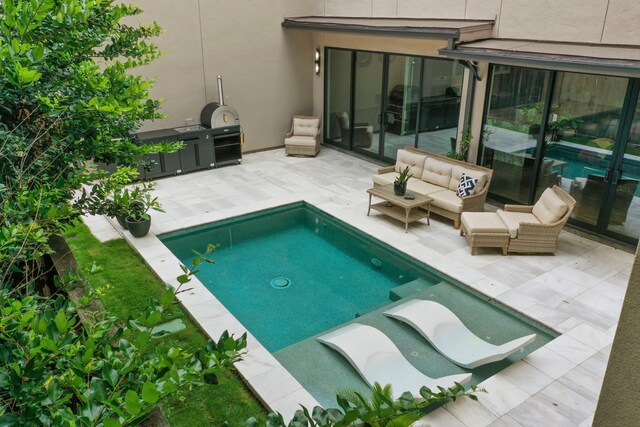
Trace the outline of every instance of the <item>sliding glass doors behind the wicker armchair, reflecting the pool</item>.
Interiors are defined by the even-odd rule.
[[[492,197],[532,204],[558,185],[577,201],[572,223],[635,242],[638,86],[626,77],[493,66],[480,159],[494,170]]]

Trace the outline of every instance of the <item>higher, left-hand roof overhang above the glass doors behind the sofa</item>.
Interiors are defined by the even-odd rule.
[[[493,21],[301,16],[284,18],[282,27],[315,31],[449,39],[467,42],[491,37]]]

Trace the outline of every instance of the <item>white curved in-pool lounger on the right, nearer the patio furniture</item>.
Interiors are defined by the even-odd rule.
[[[493,345],[474,335],[451,310],[435,301],[413,299],[384,314],[411,325],[444,357],[468,369],[502,360],[536,338],[532,334]]]

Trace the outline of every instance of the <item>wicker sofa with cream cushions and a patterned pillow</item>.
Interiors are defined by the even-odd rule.
[[[409,166],[412,177],[407,189],[433,199],[431,213],[453,220],[460,227],[462,212],[483,212],[493,171],[482,166],[451,159],[413,147],[398,150],[394,166],[378,170],[373,177],[374,186],[393,184],[398,173]],[[475,192],[460,198],[456,190],[462,174],[477,180]]]

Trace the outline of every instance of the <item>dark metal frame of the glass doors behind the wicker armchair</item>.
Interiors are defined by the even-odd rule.
[[[500,65],[506,65],[506,64],[496,64],[496,63],[491,64],[488,80],[487,80],[488,82],[493,81],[493,73],[495,71],[495,67]],[[524,67],[524,66],[511,66],[511,67],[533,68],[533,67]],[[543,69],[540,69],[540,70],[543,70]],[[538,180],[540,177],[542,161],[544,159],[545,149],[547,145],[545,141],[545,136],[547,134],[547,124],[548,124],[549,115],[551,114],[553,92],[554,92],[554,87],[557,81],[557,74],[558,72],[592,74],[592,73],[585,73],[585,72],[580,73],[575,70],[571,70],[571,71],[543,70],[543,71],[549,71],[550,73],[549,84],[547,85],[547,90],[545,91],[544,108],[542,111],[542,122],[540,123],[540,131],[536,138],[537,145],[535,150],[536,158],[534,163],[534,177],[533,177],[534,179],[533,182],[535,183],[535,185],[531,187],[529,192],[529,201],[528,201],[529,204],[534,204],[536,201],[536,190],[538,187]],[[597,75],[603,75],[603,74],[592,74],[592,75],[597,76]],[[618,126],[618,129],[615,135],[614,146],[612,147],[612,151],[611,151],[611,160],[609,162],[609,166],[605,176],[605,182],[608,183],[609,185],[606,188],[605,194],[603,195],[603,198],[602,198],[602,204],[598,212],[597,222],[595,225],[593,225],[580,220],[576,220],[574,218],[570,218],[569,223],[575,224],[582,229],[590,230],[592,232],[595,232],[603,236],[608,236],[625,243],[636,245],[638,244],[638,239],[624,235],[624,234],[616,233],[607,228],[609,223],[609,218],[611,216],[613,205],[615,202],[617,185],[620,178],[622,177],[622,172],[623,172],[622,163],[624,160],[624,154],[626,152],[627,144],[630,138],[631,125],[634,119],[635,106],[639,102],[639,96],[640,96],[640,79],[627,77],[627,76],[621,76],[621,77],[627,78],[628,84],[627,84],[627,89],[624,96],[624,101],[622,104],[622,111],[620,114],[620,125]],[[484,109],[482,112],[483,130],[487,122],[487,113],[489,112],[489,102],[491,101],[490,95],[491,95],[491,84],[489,83],[487,84],[487,88],[485,92]],[[482,152],[484,149],[483,142],[484,141],[482,141],[481,139],[478,147],[477,157],[476,157],[477,164],[479,164],[478,162],[481,161]],[[513,200],[505,199],[504,197],[500,197],[497,195],[490,194],[490,197],[491,199],[501,203],[513,202]]]

